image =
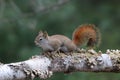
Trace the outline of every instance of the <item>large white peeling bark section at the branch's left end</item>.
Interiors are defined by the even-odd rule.
[[[0,65],[0,80],[26,80],[34,79],[35,76],[48,78],[52,75],[49,71],[51,61],[43,56],[10,64]]]

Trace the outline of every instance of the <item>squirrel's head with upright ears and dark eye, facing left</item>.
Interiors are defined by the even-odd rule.
[[[35,44],[39,47],[48,43],[48,33],[46,31],[39,31],[38,36],[35,38]]]

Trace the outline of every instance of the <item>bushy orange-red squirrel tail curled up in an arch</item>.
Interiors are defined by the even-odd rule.
[[[93,48],[99,46],[100,40],[100,32],[93,24],[80,25],[73,32],[73,43],[76,46],[81,46],[87,42],[87,47]]]

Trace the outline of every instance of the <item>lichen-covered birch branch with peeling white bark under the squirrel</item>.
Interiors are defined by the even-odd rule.
[[[94,50],[79,53],[45,53],[31,59],[0,64],[1,80],[28,80],[49,78],[54,72],[120,72],[120,50],[107,50],[106,54]]]

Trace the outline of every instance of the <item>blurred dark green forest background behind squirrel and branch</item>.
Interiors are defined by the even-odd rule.
[[[120,49],[119,0],[0,0],[0,62],[40,54],[34,44],[40,30],[72,38],[74,29],[84,23],[97,25],[102,33],[97,50]],[[120,74],[56,73],[48,80],[120,80]]]

